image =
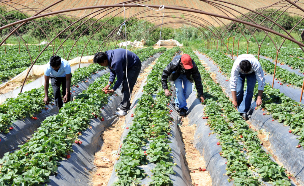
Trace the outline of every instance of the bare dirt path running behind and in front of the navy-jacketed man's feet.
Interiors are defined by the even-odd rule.
[[[131,103],[133,102],[133,99],[140,88],[140,84],[147,74],[149,74],[155,62],[156,61],[152,62],[142,74],[139,74],[133,88]],[[125,116],[123,116],[119,118],[118,122],[105,128],[105,131],[102,133],[101,137],[104,140],[104,143],[102,144],[101,149],[95,153],[94,165],[96,165],[97,171],[93,174],[92,181],[94,186],[108,184],[113,169],[113,163],[117,154],[117,149],[120,143],[120,137],[123,133],[125,125]]]

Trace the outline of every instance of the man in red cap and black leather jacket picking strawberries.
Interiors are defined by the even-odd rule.
[[[191,59],[189,54],[184,53],[183,55],[175,56],[173,60],[167,65],[161,76],[161,84],[165,91],[166,96],[170,96],[171,93],[168,90],[168,77],[169,82],[174,81],[175,84],[175,105],[178,107],[180,116],[186,116],[188,107],[186,99],[192,92],[192,83],[195,82],[195,86],[202,102],[205,98],[203,97],[203,85],[202,78],[199,70]],[[184,88],[182,87],[184,85]]]

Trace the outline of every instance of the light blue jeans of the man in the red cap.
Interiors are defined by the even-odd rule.
[[[188,111],[186,99],[192,92],[192,83],[187,79],[186,74],[180,74],[179,77],[174,81],[175,84],[175,104],[179,109],[186,109]],[[184,84],[184,88],[182,87]]]

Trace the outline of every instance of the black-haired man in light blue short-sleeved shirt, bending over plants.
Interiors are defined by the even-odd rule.
[[[44,71],[44,99],[43,102],[47,104],[49,99],[49,81],[54,91],[54,99],[58,111],[64,103],[71,101],[70,86],[71,86],[71,66],[67,60],[59,56],[52,56],[50,62],[47,63],[48,67]],[[63,102],[60,95],[60,85],[62,85]]]

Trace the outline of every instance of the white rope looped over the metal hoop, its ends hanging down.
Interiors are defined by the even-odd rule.
[[[127,5],[144,6],[144,7],[147,7],[149,9],[151,9],[151,10],[154,10],[154,11],[161,11],[162,9],[164,9],[163,19],[161,21],[161,29],[163,28],[164,15],[165,15],[165,6],[164,5],[160,5],[158,10],[152,9],[151,7],[146,6],[146,5],[140,5],[140,4],[135,4],[135,3],[130,3],[130,4],[127,4]],[[128,50],[127,50],[127,29],[126,29],[126,8],[125,8],[125,3],[123,3],[123,14],[124,14],[124,18],[125,18],[123,24],[125,25],[125,39],[126,39],[126,61],[127,61],[127,65],[126,65],[126,78],[127,78],[127,83],[128,83],[129,93],[130,93],[130,98],[129,98],[129,101],[130,101],[131,100],[131,91],[130,91],[130,85],[129,85],[129,80],[128,80],[128,76],[127,76],[127,72],[128,72]],[[121,27],[120,27],[120,29],[121,29]],[[119,29],[119,33],[120,33],[120,29]],[[159,34],[159,40],[161,40],[161,32]],[[158,46],[159,47],[161,46],[161,42],[158,43]]]

